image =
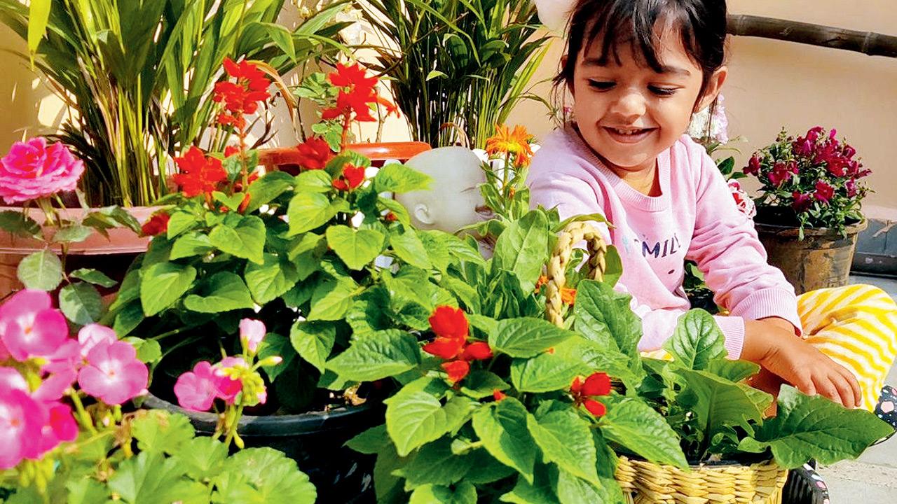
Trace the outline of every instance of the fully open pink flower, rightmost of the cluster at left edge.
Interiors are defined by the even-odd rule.
[[[100,342],[87,353],[78,385],[106,404],[122,404],[146,389],[149,372],[130,343]]]

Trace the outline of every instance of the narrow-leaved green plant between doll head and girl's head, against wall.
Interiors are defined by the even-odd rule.
[[[550,37],[530,0],[357,0],[379,32],[379,65],[416,140],[482,147],[526,96]]]

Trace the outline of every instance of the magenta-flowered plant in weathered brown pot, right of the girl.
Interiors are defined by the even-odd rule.
[[[744,171],[758,178],[757,233],[798,294],[847,285],[857,234],[867,226],[860,204],[871,170],[846,141],[816,126],[794,138],[782,130]]]

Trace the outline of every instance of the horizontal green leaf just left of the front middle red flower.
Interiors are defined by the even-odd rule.
[[[299,348],[296,349],[300,352]],[[421,351],[414,335],[389,329],[356,340],[345,352],[327,361],[325,368],[341,378],[373,381],[414,369]]]

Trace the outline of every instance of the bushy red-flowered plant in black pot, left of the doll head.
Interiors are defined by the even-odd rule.
[[[298,175],[257,175],[245,138],[266,76],[246,61],[228,72],[214,98],[224,104],[217,120],[234,132],[226,157],[191,147],[177,159],[181,191],[161,199],[156,234],[106,320],[119,335],[161,344],[151,391],[170,403],[176,379],[197,362],[239,352],[240,319],[263,322],[260,359],[283,361],[263,367],[272,391],[265,404],[228,425],[246,446],[279,443],[321,483],[322,500],[365,499],[370,468],[342,444],[382,418],[378,387],[388,384],[377,383],[378,360],[405,361],[390,372],[413,368],[419,351],[409,331],[428,327],[436,303],[465,291],[444,272],[457,257],[482,258],[452,235],[414,230],[405,208],[380,196],[426,187],[427,177],[401,164],[370,177],[370,161],[313,137]],[[337,91],[325,113],[344,131],[379,101],[376,79],[359,65],[338,65],[329,82]],[[355,372],[337,376],[327,366],[334,360]],[[202,414],[191,420],[212,434],[218,422]]]

